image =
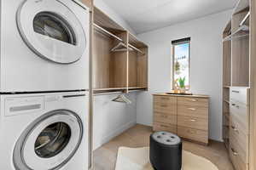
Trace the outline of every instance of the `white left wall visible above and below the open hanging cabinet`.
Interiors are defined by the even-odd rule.
[[[100,8],[110,18],[119,23],[125,29],[132,31],[131,27],[123,20],[119,14],[116,14],[112,8],[109,8],[103,0],[95,0],[95,5]],[[131,105],[120,104],[111,101],[118,94],[101,95],[94,98],[93,105],[93,149],[100,147],[108,142],[114,136],[122,133],[127,128],[137,122],[136,115],[136,94],[127,95],[132,100]]]

